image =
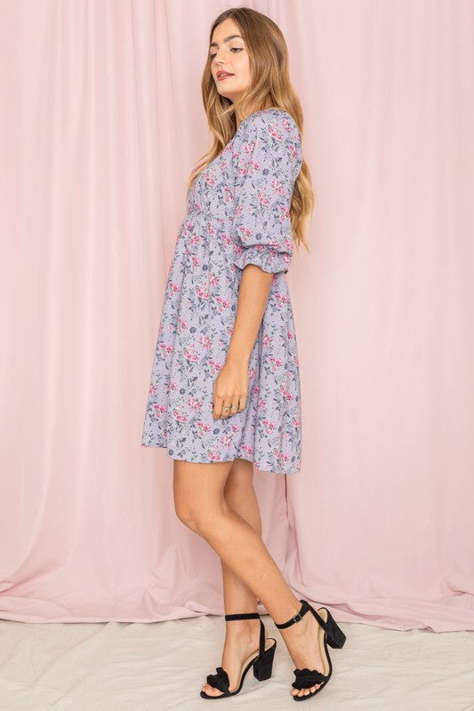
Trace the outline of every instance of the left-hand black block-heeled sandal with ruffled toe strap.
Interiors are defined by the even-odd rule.
[[[258,612],[243,612],[236,615],[225,615],[226,622],[229,619],[260,619]],[[273,637],[268,637],[265,640],[265,626],[260,619],[260,643],[259,649],[244,659],[244,664],[240,670],[240,679],[237,689],[229,691],[229,675],[222,667],[216,667],[217,674],[208,674],[205,681],[211,686],[222,691],[218,696],[210,696],[205,691],[200,692],[203,699],[223,699],[226,696],[234,696],[242,689],[245,675],[253,667],[253,676],[257,681],[263,682],[271,676],[271,668],[273,667],[273,658],[277,649],[277,640]]]

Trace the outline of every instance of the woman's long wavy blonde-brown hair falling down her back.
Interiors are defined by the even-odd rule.
[[[221,12],[213,21],[209,42],[213,31],[224,20],[231,18],[240,29],[245,47],[249,54],[252,80],[245,96],[233,103],[217,91],[211,70],[212,58],[208,56],[201,82],[201,91],[205,113],[211,131],[213,145],[199,159],[197,166],[189,176],[186,194],[199,173],[221,154],[237,131],[236,108],[239,116],[249,116],[261,108],[280,108],[287,111],[298,126],[301,142],[303,138],[303,116],[301,104],[289,74],[288,51],[285,38],[277,24],[269,17],[249,7],[233,7]],[[301,171],[296,179],[290,205],[293,240],[300,246],[304,244],[309,252],[305,226],[313,211],[315,195],[312,188],[311,174],[304,157]]]

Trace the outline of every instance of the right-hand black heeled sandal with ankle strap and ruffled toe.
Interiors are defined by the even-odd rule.
[[[333,647],[333,649],[341,649],[346,641],[346,635],[344,635],[341,627],[339,627],[335,619],[333,619],[333,615],[329,610],[327,610],[327,608],[318,608],[319,612],[321,612],[321,615],[319,615],[317,611],[311,607],[307,600],[300,600],[300,602],[301,610],[297,615],[292,617],[292,619],[288,619],[287,622],[282,622],[281,625],[277,625],[275,622],[275,625],[279,629],[290,627],[291,625],[294,625],[295,622],[298,622],[303,615],[310,610],[320,625],[317,630],[317,643],[319,645],[321,659],[323,659],[325,674],[318,672],[317,669],[294,669],[293,674],[296,676],[296,679],[292,683],[294,689],[309,689],[309,687],[314,686],[317,683],[321,684],[321,686],[317,687],[316,691],[309,691],[309,694],[306,694],[305,696],[298,696],[295,694],[293,696],[295,701],[309,699],[311,696],[317,694],[318,691],[322,691],[325,688],[325,685],[328,683],[333,673],[333,665],[331,663],[329,652],[327,651],[327,644],[329,644],[330,647]]]

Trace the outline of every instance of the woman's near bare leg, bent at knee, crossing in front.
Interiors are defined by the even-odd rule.
[[[202,536],[237,578],[264,604],[272,619],[285,622],[300,611],[301,603],[288,587],[259,532],[227,503],[225,486],[232,462],[201,464],[174,460],[173,493],[176,514]],[[296,625],[278,630],[298,668],[323,671],[317,645],[317,620],[305,615]],[[237,686],[232,685],[230,691]],[[317,689],[319,684],[310,687]],[[309,689],[292,694],[302,696]]]

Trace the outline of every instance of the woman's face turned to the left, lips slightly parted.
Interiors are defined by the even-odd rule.
[[[217,91],[234,103],[245,92],[251,79],[245,43],[234,20],[228,18],[214,29],[209,54]],[[220,79],[218,74],[221,72],[228,73],[228,76]]]

